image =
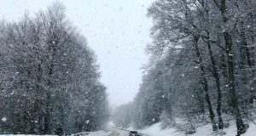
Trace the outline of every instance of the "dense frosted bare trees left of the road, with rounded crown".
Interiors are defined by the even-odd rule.
[[[86,39],[53,3],[0,26],[0,132],[61,134],[101,129],[106,88]]]

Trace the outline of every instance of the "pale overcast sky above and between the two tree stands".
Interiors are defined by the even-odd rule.
[[[148,61],[152,21],[146,17],[154,0],[60,0],[67,17],[87,37],[101,65],[102,83],[111,105],[125,104],[137,94],[142,80],[140,68]],[[0,17],[19,20],[45,9],[54,0],[0,0]]]

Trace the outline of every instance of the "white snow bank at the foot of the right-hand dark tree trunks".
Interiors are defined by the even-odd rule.
[[[249,124],[250,127],[247,130],[247,133],[242,136],[256,136],[256,125],[253,123]],[[174,128],[166,128],[161,129],[161,123],[156,123],[151,127],[145,128],[140,131],[144,133],[146,136],[185,136],[185,134],[181,132],[177,132]],[[218,134],[219,133],[219,134]],[[189,136],[218,136],[221,135],[220,132],[212,133],[211,124],[207,124],[202,127],[198,127],[196,133],[191,134]],[[230,127],[224,129],[224,136],[235,136],[236,135],[236,124],[230,124]]]

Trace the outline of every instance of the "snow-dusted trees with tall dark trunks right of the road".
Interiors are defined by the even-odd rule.
[[[256,113],[255,7],[254,0],[154,2],[151,59],[136,99],[119,108],[136,112],[118,109],[126,117],[114,122],[141,128],[163,121],[195,133],[199,124],[218,131],[234,121],[237,135],[245,133]]]

